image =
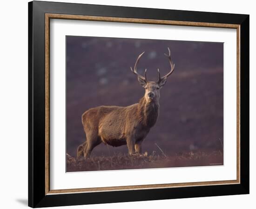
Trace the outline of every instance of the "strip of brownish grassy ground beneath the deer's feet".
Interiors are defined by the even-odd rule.
[[[147,168],[171,168],[223,165],[223,153],[215,151],[178,153],[174,156],[156,154],[128,156],[127,154],[115,154],[111,157],[90,157],[88,159],[75,159],[67,154],[67,172],[93,171],[93,170],[124,170]]]

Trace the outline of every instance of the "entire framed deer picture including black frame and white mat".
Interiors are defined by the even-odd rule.
[[[30,207],[249,194],[249,15],[32,1],[28,26]]]

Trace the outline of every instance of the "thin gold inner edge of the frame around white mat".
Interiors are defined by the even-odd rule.
[[[97,187],[81,189],[50,189],[50,19],[65,20],[90,20],[90,21],[108,21],[124,23],[142,23],[159,24],[175,26],[201,26],[201,27],[219,27],[236,29],[236,180],[227,181],[209,181],[209,182],[190,182],[190,183],[166,183],[166,184],[147,184],[134,186],[115,186],[115,187]],[[45,14],[45,195],[54,195],[61,193],[81,193],[81,192],[102,192],[102,191],[120,191],[135,189],[162,189],[188,186],[209,186],[223,184],[240,183],[240,25],[207,23],[207,22],[189,22],[176,20],[151,20],[134,18],[117,18],[103,16],[87,15],[69,15],[69,14]]]

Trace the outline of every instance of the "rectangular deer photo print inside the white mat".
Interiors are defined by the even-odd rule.
[[[66,36],[66,62],[67,172],[223,165],[223,43]]]

